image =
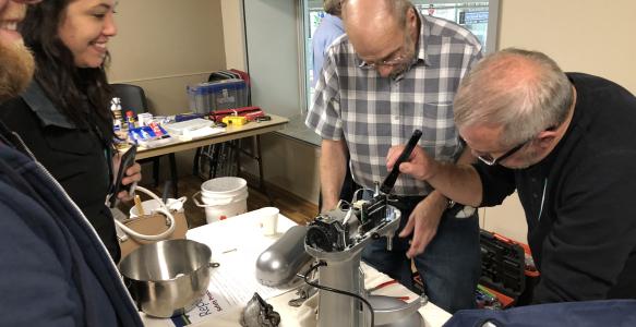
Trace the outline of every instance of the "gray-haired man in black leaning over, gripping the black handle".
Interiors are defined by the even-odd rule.
[[[479,162],[439,162],[416,148],[399,169],[471,206],[517,191],[541,274],[532,303],[636,298],[634,95],[563,73],[541,52],[506,49],[464,78],[455,123]]]

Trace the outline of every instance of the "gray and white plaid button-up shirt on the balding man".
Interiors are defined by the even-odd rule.
[[[406,144],[413,130],[419,145],[437,160],[455,161],[464,149],[453,121],[459,81],[481,59],[481,45],[455,23],[422,16],[417,60],[395,80],[365,66],[346,35],[327,50],[305,124],[322,138],[345,138],[353,180],[372,189],[387,174],[386,154]],[[425,195],[431,187],[400,174],[394,192]]]

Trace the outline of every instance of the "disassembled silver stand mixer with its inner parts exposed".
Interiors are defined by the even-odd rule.
[[[389,296],[369,295],[360,268],[362,250],[372,240],[387,239],[387,250],[399,227],[400,211],[388,205],[388,193],[399,174],[399,164],[410,155],[421,136],[415,131],[393,171],[376,186],[371,199],[359,199],[349,208],[336,208],[319,215],[309,225],[304,241],[305,252],[317,264],[319,327],[333,326],[423,326],[418,310],[428,301],[421,295],[411,303]]]

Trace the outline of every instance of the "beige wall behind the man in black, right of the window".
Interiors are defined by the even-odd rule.
[[[636,94],[636,1],[502,0],[499,48],[539,50],[564,71],[612,80]],[[485,209],[483,228],[527,242],[518,197]]]

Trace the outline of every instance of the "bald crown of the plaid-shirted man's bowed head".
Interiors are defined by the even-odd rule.
[[[401,46],[404,26],[398,26],[386,1],[350,0],[343,10],[349,40],[363,60],[381,60]]]

